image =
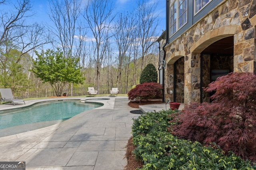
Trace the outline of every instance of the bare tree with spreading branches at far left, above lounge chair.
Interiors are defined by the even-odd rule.
[[[43,27],[37,23],[29,24],[26,20],[32,17],[32,6],[30,0],[18,0],[15,4],[5,3],[8,0],[1,1],[2,5],[6,5],[6,10],[2,10],[0,14],[0,63],[2,72],[4,75],[2,78],[6,82],[4,86],[10,86],[11,82],[8,80],[10,78],[10,63],[12,63],[13,68],[19,69],[20,63],[26,66],[31,64],[27,55],[28,53],[33,53],[33,51],[48,43],[47,36],[44,33]],[[8,6],[12,6],[11,10]],[[18,53],[15,55],[11,54],[11,51],[17,50]],[[12,55],[12,57],[10,57]],[[24,62],[27,61],[27,62]],[[16,64],[14,66],[14,64]],[[23,66],[23,69],[26,68]],[[15,70],[12,70],[15,72]],[[30,72],[28,72],[28,78]]]

